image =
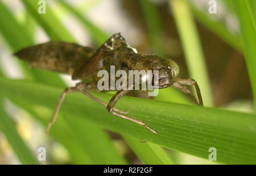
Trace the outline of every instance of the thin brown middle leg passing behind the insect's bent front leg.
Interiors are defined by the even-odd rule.
[[[91,89],[91,88],[92,88],[92,85],[89,85],[89,86],[90,86],[90,87],[87,87],[86,82],[81,82],[81,83],[77,83],[77,84],[76,84],[76,88],[77,88],[78,91],[80,91],[81,93],[83,93],[85,96],[91,98],[92,100],[98,102],[99,104],[101,104],[101,105],[107,107],[108,104],[106,104],[104,101],[101,101],[100,99],[94,97],[93,95],[90,95],[90,93],[88,93],[88,92],[86,91],[86,89]],[[119,113],[122,113],[122,114],[127,114],[127,113],[128,113],[128,110],[122,111],[122,110],[115,109],[115,108],[114,108],[114,110],[117,111],[117,112],[119,112]]]

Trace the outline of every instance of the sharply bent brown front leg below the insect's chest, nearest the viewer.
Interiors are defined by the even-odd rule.
[[[117,103],[117,101],[123,96],[125,95],[126,93],[130,92],[130,90],[121,90],[121,91],[118,91],[117,93],[115,93],[115,95],[111,98],[111,100],[109,101],[109,104],[107,106],[107,110],[114,114],[114,115],[117,115],[118,117],[121,117],[121,118],[125,118],[129,121],[133,121],[135,123],[138,123],[139,125],[142,125],[146,128],[148,128],[148,130],[152,131],[154,134],[157,134],[157,132],[155,130],[153,130],[152,128],[150,128],[149,126],[146,125],[145,122],[139,120],[139,119],[136,119],[136,118],[133,118],[133,117],[130,117],[128,115],[125,115],[123,113],[119,113],[117,111],[114,110],[114,106],[115,104]]]

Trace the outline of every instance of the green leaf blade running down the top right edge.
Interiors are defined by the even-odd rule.
[[[256,30],[247,3],[240,0],[233,0],[232,3],[240,21],[243,53],[253,89],[254,110],[256,110]]]

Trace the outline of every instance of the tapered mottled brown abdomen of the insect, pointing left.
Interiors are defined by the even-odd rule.
[[[93,53],[92,48],[57,41],[24,48],[15,55],[32,67],[73,74]]]

